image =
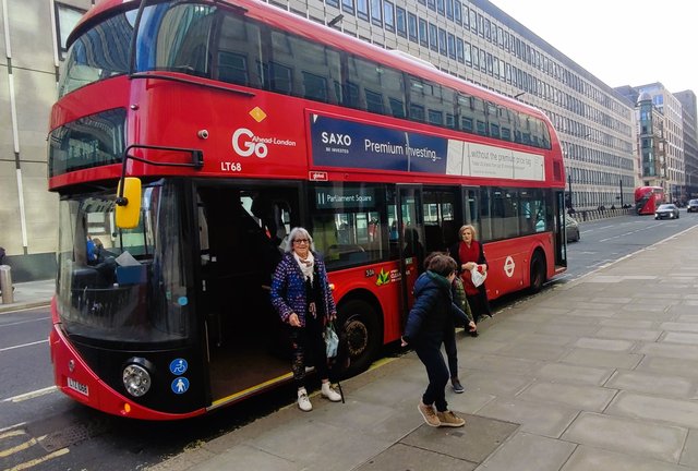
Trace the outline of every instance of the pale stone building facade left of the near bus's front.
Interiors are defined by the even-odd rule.
[[[65,39],[93,0],[0,5],[0,246],[14,281],[55,275],[58,198],[47,191],[46,136]]]

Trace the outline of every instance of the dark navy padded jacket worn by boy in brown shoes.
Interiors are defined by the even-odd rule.
[[[444,333],[454,328],[454,317],[468,324],[468,317],[453,302],[450,283],[443,276],[425,271],[414,282],[414,304],[407,316],[405,341],[434,341],[441,345]]]

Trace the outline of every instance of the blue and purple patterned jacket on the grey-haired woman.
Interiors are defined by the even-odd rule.
[[[337,306],[332,297],[325,263],[313,252],[317,281],[322,290],[322,299],[325,302],[325,316],[327,318],[337,315]],[[276,309],[281,321],[288,323],[291,313],[298,314],[301,326],[305,326],[308,314],[308,300],[305,298],[305,278],[298,266],[293,254],[288,252],[281,258],[272,279],[272,305]]]

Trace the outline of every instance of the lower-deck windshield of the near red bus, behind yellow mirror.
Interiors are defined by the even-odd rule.
[[[172,183],[143,190],[140,225],[115,227],[113,192],[60,203],[58,312],[84,341],[163,342],[190,334]]]

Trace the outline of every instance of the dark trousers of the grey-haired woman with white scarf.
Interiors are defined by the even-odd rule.
[[[329,377],[323,329],[320,316],[313,318],[310,314],[305,317],[305,327],[290,327],[289,337],[293,355],[291,370],[293,381],[299,388],[305,387],[305,366],[314,365],[321,379]]]

